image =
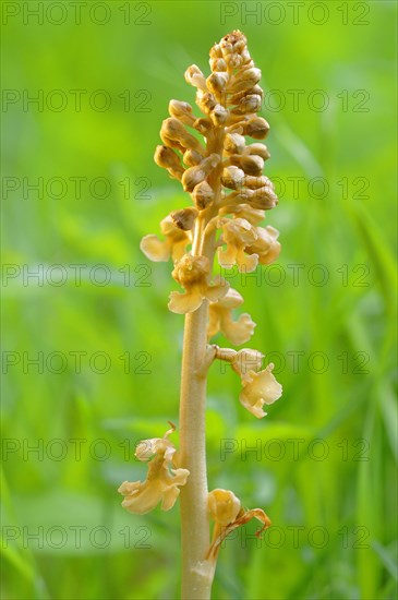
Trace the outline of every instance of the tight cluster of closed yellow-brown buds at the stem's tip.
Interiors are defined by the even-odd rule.
[[[253,196],[250,193],[253,187],[264,187],[245,181],[245,177],[261,178],[264,161],[269,158],[265,145],[248,145],[245,141],[245,136],[263,140],[269,131],[267,121],[257,116],[263,99],[258,84],[262,73],[254,65],[246,38],[240,31],[226,35],[209,55],[212,73],[207,77],[196,64],[185,71],[185,81],[196,88],[196,106],[203,116],[196,117],[189,103],[170,100],[170,118],[160,130],[165,145],[158,146],[155,160],[168,169],[171,177],[182,180],[200,211],[205,211],[215,200],[208,178],[222,160],[222,190],[237,189],[238,173],[243,188],[241,195],[230,197],[233,212],[243,199]],[[222,147],[215,154],[215,134],[220,130],[222,135],[218,139],[222,140]],[[198,184],[202,188],[196,189]],[[275,194],[273,202],[258,200],[264,194],[256,192],[255,208],[276,205]]]

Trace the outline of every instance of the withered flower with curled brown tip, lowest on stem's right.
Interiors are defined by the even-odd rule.
[[[269,517],[262,508],[246,511],[241,506],[240,500],[230,490],[213,490],[208,494],[207,506],[214,520],[212,544],[205,562],[208,565],[208,569],[217,561],[222,541],[237,527],[245,525],[252,518],[256,518],[263,524],[263,527],[255,533],[257,538],[261,538],[263,531],[270,526]]]

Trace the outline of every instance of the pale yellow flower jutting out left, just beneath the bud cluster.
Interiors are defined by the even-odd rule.
[[[140,248],[145,256],[154,262],[168,261],[170,256],[173,261],[180,260],[191,243],[191,231],[180,229],[171,215],[160,221],[160,231],[166,237],[164,241],[153,233],[141,240]]]

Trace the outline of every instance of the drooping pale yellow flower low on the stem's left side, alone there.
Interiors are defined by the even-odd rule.
[[[144,440],[137,445],[136,458],[149,460],[146,480],[124,481],[118,490],[124,496],[123,508],[130,513],[145,515],[159,503],[162,511],[170,511],[180,494],[179,485],[186,483],[190,471],[178,467],[176,447],[167,439],[173,431],[172,425],[164,437]]]

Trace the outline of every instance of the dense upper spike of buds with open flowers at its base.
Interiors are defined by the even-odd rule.
[[[261,71],[239,31],[213,46],[209,63],[207,77],[195,64],[185,71],[202,115],[194,115],[186,101],[171,100],[170,117],[160,129],[164,145],[155,152],[157,165],[181,181],[193,206],[161,221],[164,241],[150,235],[141,242],[153,261],[172,257],[172,276],[185,290],[171,295],[169,309],[177,313],[194,312],[203,301],[215,302],[228,293],[221,279],[217,291],[212,289],[208,253],[207,261],[202,256],[206,244],[218,247],[222,267],[238,265],[248,273],[258,264],[269,265],[280,252],[278,231],[258,226],[265,211],[278,202],[273,183],[262,175],[269,152],[260,142],[246,144],[246,136],[263,140],[269,131],[267,121],[257,116],[263,98]],[[219,286],[225,286],[224,295]]]

